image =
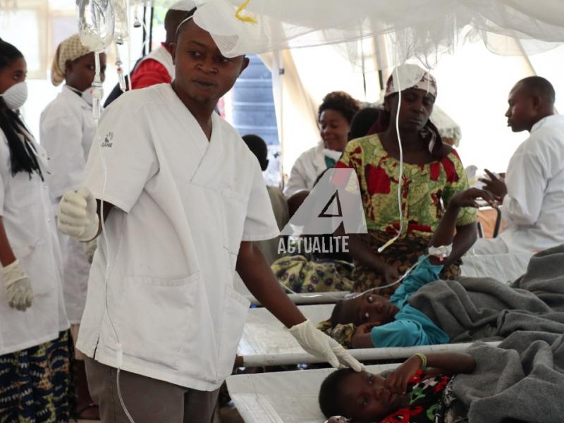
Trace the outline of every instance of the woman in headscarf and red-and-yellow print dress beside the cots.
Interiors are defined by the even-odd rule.
[[[379,114],[379,121],[386,121],[382,126],[386,129],[349,142],[336,164],[357,172],[369,231],[368,235],[350,235],[357,292],[388,285],[415,264],[439,225],[443,207],[456,192],[468,188],[458,154],[443,145],[438,130],[429,121],[436,94],[432,75],[415,65],[400,66],[388,79],[384,111]],[[403,149],[403,225],[398,212],[398,137]],[[477,237],[476,219],[474,209],[460,212],[453,250],[443,263],[443,278],[458,276],[458,259]],[[395,243],[383,252],[377,251],[396,235],[399,238]],[[386,297],[392,293],[393,287],[380,292]]]

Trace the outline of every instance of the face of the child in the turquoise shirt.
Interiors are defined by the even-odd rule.
[[[341,324],[353,323],[355,326],[365,323],[389,323],[399,311],[398,307],[386,298],[371,293],[353,300],[344,300],[341,310]]]

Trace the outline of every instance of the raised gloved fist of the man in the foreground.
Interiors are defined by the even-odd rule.
[[[87,188],[68,191],[59,202],[57,228],[78,241],[90,241],[98,234],[96,199]]]

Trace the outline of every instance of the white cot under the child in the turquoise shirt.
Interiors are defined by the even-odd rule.
[[[302,314],[314,324],[328,319],[333,307],[330,304],[298,306]],[[360,348],[350,350],[350,353],[361,361],[396,360],[405,359],[415,353],[461,352],[469,345],[470,343],[453,343],[401,348]],[[264,308],[249,310],[237,355],[242,357],[244,367],[310,364],[322,361],[306,353],[283,325]]]

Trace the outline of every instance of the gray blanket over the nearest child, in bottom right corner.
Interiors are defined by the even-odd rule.
[[[564,336],[517,332],[498,348],[476,343],[472,374],[458,374],[453,393],[469,423],[564,422]]]

